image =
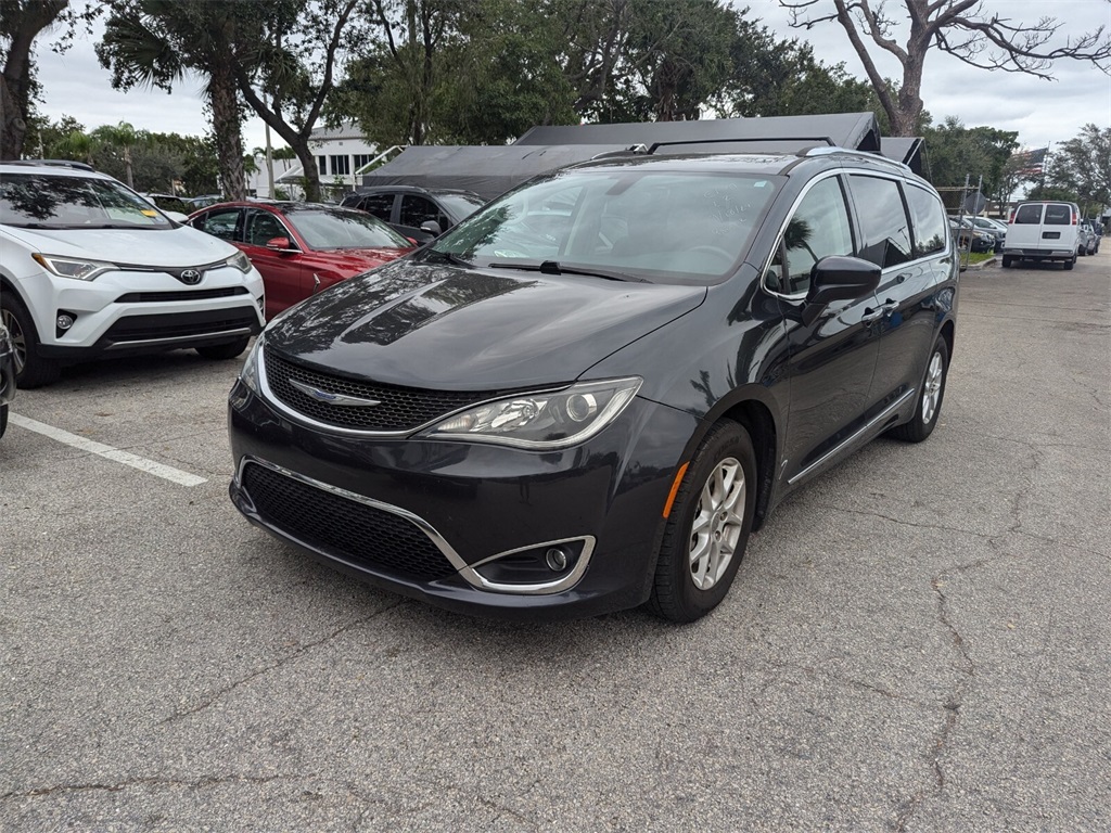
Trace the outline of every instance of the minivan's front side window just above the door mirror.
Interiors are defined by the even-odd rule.
[[[813,185],[787,223],[783,245],[765,279],[768,289],[787,294],[805,292],[814,264],[831,254],[852,254],[849,209],[835,177]]]

